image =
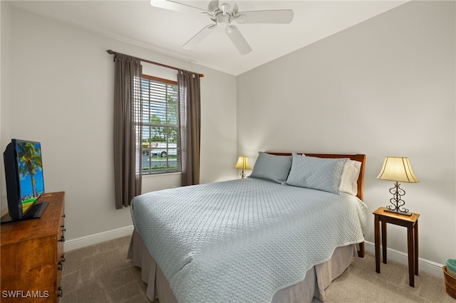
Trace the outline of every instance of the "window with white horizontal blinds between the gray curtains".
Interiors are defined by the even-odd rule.
[[[180,171],[177,82],[141,78],[142,174]]]

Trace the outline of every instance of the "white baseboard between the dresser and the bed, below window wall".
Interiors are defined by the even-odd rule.
[[[116,228],[108,230],[103,233],[95,233],[94,235],[86,235],[85,237],[66,240],[63,248],[66,252],[70,250],[77,250],[89,245],[102,243],[116,238],[122,238],[133,233],[133,225],[125,226],[123,228]]]

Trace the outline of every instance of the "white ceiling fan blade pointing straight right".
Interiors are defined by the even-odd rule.
[[[237,23],[290,23],[293,20],[292,9],[271,11],[239,11],[232,21]]]

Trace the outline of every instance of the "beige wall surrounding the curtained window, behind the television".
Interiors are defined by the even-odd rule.
[[[1,95],[1,150],[11,138],[41,142],[46,191],[66,191],[67,240],[132,225],[130,209],[115,210],[113,201],[114,63],[105,50],[204,74],[200,180],[237,177],[233,75],[7,6],[1,1],[1,85],[11,92]],[[5,28],[4,13],[11,19]],[[4,31],[11,33],[10,41]],[[11,68],[5,76],[6,64]],[[179,177],[147,176],[143,191],[177,186]],[[1,208],[6,208],[4,184]]]

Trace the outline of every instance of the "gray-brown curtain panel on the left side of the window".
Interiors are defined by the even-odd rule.
[[[115,208],[129,206],[141,193],[140,59],[115,56],[114,84],[114,187]]]

